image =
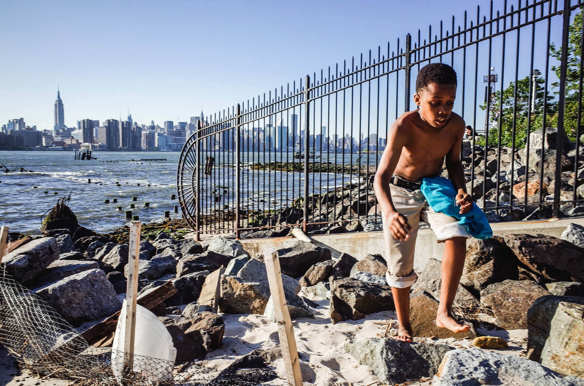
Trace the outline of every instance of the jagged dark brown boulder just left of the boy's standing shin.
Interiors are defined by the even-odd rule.
[[[367,314],[395,310],[391,287],[352,278],[331,280],[331,321],[359,320]]]

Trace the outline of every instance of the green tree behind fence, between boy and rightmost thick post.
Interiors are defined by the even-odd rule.
[[[552,101],[554,97],[550,95],[549,90],[545,93],[544,78],[536,79],[534,113],[531,113],[530,78],[530,76],[526,76],[523,79],[518,79],[517,90],[515,90],[515,82],[511,82],[509,86],[503,89],[502,93],[498,90],[491,95],[491,103],[489,106],[489,145],[498,145],[499,143],[499,121],[501,125],[501,145],[509,147],[513,145],[513,117],[515,117],[515,147],[524,148],[526,146],[528,123],[530,123],[530,132],[543,127],[544,100],[546,102],[545,125],[546,127],[554,125],[557,103]],[[499,106],[500,118],[498,116]],[[481,110],[485,110],[486,103],[483,103],[480,107]],[[529,122],[530,115],[531,121]]]

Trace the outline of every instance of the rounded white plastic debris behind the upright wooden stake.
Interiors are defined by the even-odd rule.
[[[124,370],[125,321],[126,300],[124,299],[112,345],[112,371],[118,383],[121,383]],[[155,359],[159,359],[159,361]],[[156,315],[138,304],[136,306],[133,371],[140,372],[143,377],[152,382],[169,381],[172,380],[172,367],[175,359],[176,349],[172,344],[171,334]]]

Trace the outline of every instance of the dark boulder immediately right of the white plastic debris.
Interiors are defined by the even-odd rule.
[[[199,330],[190,330],[193,323],[187,318],[158,317],[172,336],[172,343],[176,349],[176,362],[193,362],[201,360],[207,355],[203,345],[203,336]]]

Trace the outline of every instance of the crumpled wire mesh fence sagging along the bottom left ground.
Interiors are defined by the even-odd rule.
[[[177,364],[90,346],[37,294],[0,268],[0,342],[23,369],[76,385],[258,386],[258,382],[202,363]]]

